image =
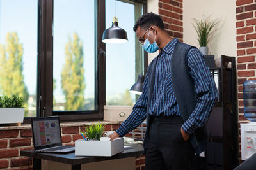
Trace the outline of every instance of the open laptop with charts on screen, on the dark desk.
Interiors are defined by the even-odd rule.
[[[70,153],[74,146],[62,145],[59,117],[31,118],[35,152]]]

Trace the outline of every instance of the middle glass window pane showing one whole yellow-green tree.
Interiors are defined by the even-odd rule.
[[[54,111],[95,110],[94,2],[54,1]]]

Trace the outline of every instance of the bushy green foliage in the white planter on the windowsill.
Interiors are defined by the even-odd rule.
[[[12,97],[0,96],[0,108],[23,108],[24,99],[13,94]]]

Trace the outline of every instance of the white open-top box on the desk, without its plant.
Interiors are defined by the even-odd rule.
[[[111,157],[124,151],[124,138],[116,138],[113,141],[75,141],[76,156],[100,156]]]

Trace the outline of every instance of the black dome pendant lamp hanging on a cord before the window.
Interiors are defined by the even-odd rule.
[[[116,1],[115,1],[115,15],[116,15]],[[117,18],[114,17],[112,26],[103,32],[103,43],[126,43],[128,42],[127,34],[124,29],[118,27]]]

